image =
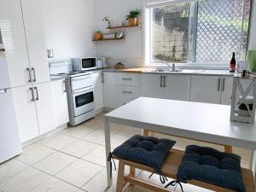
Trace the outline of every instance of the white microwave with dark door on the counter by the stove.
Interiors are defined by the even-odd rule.
[[[96,69],[96,57],[73,58],[73,71]]]

